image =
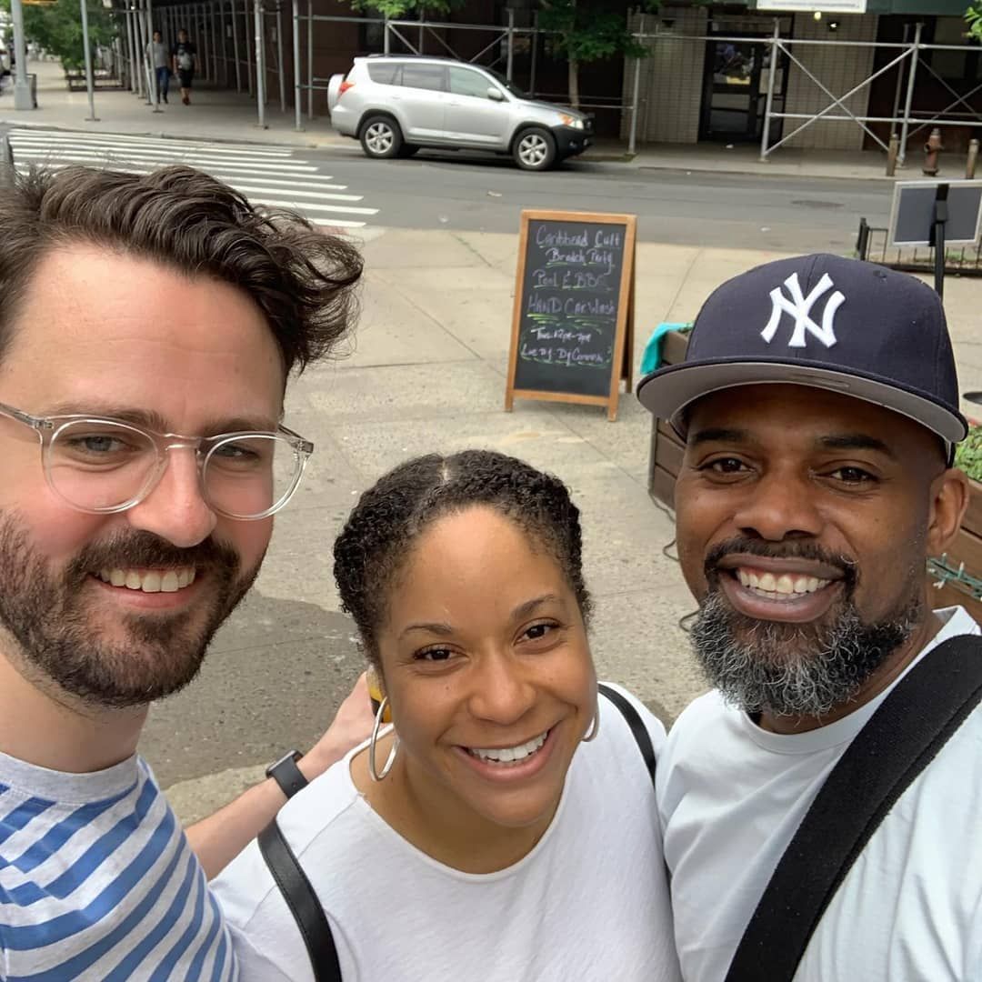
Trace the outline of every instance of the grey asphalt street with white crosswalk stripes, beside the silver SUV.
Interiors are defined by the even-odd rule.
[[[510,159],[420,151],[366,160],[351,146],[288,148],[145,136],[15,130],[17,163],[149,171],[189,163],[257,202],[295,207],[321,226],[504,232],[522,208],[628,212],[641,242],[848,253],[860,217],[886,225],[883,182],[711,174],[570,160],[530,174]]]

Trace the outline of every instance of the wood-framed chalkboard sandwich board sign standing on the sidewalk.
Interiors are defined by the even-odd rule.
[[[522,211],[505,409],[606,406],[631,386],[636,216]]]

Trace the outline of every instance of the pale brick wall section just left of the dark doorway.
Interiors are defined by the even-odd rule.
[[[702,67],[706,42],[673,40],[675,37],[702,37],[706,33],[704,7],[663,7],[657,17],[645,18],[645,33],[658,37],[645,43],[651,51],[640,62],[626,60],[624,101],[633,97],[634,73],[640,65],[637,140],[639,143],[694,143],[699,138],[699,108],[702,102]],[[666,27],[666,21],[672,22]],[[631,19],[637,30],[639,17]],[[621,136],[627,139],[630,116],[625,113]]]

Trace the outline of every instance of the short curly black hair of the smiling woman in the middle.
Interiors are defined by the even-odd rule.
[[[437,518],[474,505],[511,518],[549,550],[566,575],[583,621],[590,595],[583,582],[579,509],[552,474],[491,450],[449,457],[428,454],[390,470],[355,505],[334,543],[334,579],[342,610],[355,619],[365,654],[379,668],[378,629],[389,591],[419,534]]]

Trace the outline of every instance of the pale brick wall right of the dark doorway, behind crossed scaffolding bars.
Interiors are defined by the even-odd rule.
[[[839,29],[829,30],[829,22],[835,20]],[[875,41],[878,15],[844,14],[825,15],[815,21],[808,14],[798,14],[794,18],[794,37],[819,41]],[[823,84],[837,97],[850,88],[869,78],[873,73],[875,48],[839,47],[836,45],[791,45],[791,54],[799,59]],[[846,99],[845,105],[857,116],[866,116],[869,103],[870,86],[861,88],[855,95]],[[788,77],[788,99],[785,111],[789,113],[818,113],[832,100],[812,82],[793,62]],[[844,116],[841,107],[836,107],[830,116]],[[785,134],[790,134],[804,120],[785,120]],[[863,145],[863,131],[848,121],[813,123],[806,130],[794,136],[785,146],[802,149],[821,150],[859,150]],[[780,152],[780,151],[779,151]]]

